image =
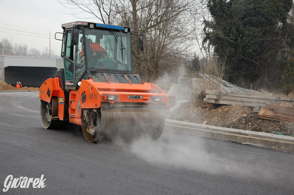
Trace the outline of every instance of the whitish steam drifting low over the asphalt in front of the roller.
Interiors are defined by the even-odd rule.
[[[163,132],[163,134],[165,134]],[[172,135],[172,136],[166,136]],[[131,143],[114,140],[113,144],[156,166],[171,166],[204,171],[210,174],[232,173],[238,175],[273,178],[274,174],[265,171],[261,166],[252,166],[245,162],[236,162],[232,158],[222,157],[224,153],[208,152],[207,144],[200,137],[162,135],[153,141],[148,137],[140,137]],[[234,158],[234,157],[233,157]],[[238,159],[238,158],[237,158]]]

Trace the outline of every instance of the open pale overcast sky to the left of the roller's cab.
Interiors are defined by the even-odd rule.
[[[55,0],[0,0],[0,40],[7,38],[12,44],[27,44],[28,48],[43,51],[49,48],[51,31],[51,51],[60,53],[61,41],[54,38],[56,32],[62,32],[61,24],[73,21],[92,21],[98,19],[77,19]],[[5,32],[3,32],[5,31]],[[33,32],[33,33],[29,33]]]

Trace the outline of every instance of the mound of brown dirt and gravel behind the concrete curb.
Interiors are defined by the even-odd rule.
[[[169,97],[169,107],[174,103],[174,97]],[[286,135],[294,134],[294,123],[260,119],[257,114],[253,113],[250,108],[240,105],[215,106],[194,100],[181,104],[168,118],[257,132],[273,133],[277,131]]]

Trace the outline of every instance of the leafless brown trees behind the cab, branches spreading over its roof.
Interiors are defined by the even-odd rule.
[[[76,8],[74,16],[92,14],[103,23],[131,26],[144,33],[144,52],[133,41],[134,72],[152,81],[186,63],[193,45],[194,0],[59,0]],[[77,15],[78,14],[78,15]],[[135,38],[135,37],[133,37]]]

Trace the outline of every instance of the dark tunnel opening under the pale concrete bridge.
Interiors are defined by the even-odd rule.
[[[22,86],[40,87],[48,78],[55,78],[56,67],[28,67],[28,66],[7,66],[4,68],[4,81],[12,86],[21,82]]]

